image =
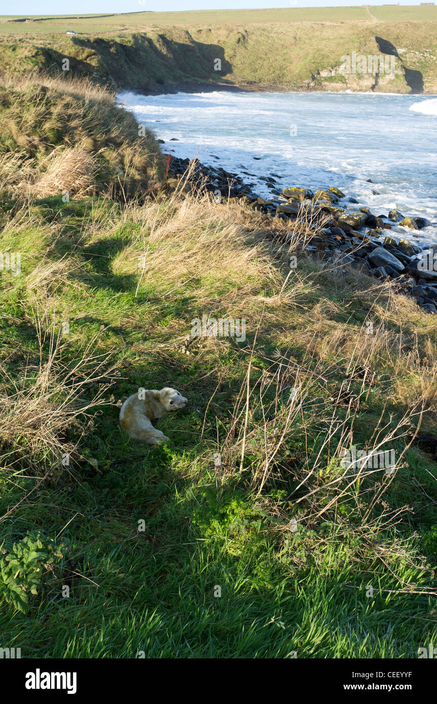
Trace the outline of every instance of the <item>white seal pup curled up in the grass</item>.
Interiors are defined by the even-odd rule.
[[[129,396],[120,408],[120,427],[134,440],[149,445],[168,442],[170,438],[154,428],[152,421],[158,420],[165,413],[185,408],[186,403],[186,398],[169,386],[160,391],[138,389],[137,394]]]

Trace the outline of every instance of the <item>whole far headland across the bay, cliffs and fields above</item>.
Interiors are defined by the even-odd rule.
[[[32,69],[60,73],[68,58],[73,75],[146,92],[210,82],[246,89],[436,93],[437,8],[410,10],[290,8],[23,22],[4,18],[0,65],[25,75]],[[68,30],[77,34],[66,35]],[[395,56],[395,75],[341,73],[341,57],[353,51]]]

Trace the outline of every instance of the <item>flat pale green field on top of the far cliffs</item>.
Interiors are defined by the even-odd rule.
[[[138,12],[119,15],[32,15],[25,22],[11,22],[25,15],[0,15],[0,32],[6,34],[53,34],[75,32],[141,31],[151,27],[196,25],[250,25],[267,23],[355,22],[378,20],[393,22],[437,20],[437,6],[369,6],[326,8],[277,8],[271,10],[205,10],[190,12]],[[30,21],[32,20],[32,21]]]

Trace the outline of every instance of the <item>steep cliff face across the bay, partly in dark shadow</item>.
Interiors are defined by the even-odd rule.
[[[437,23],[272,23],[103,36],[0,39],[4,70],[89,75],[114,87],[164,90],[188,81],[248,89],[437,92]]]

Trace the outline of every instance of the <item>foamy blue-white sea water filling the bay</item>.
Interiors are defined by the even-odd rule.
[[[165,140],[163,151],[238,173],[261,196],[272,194],[260,177],[277,174],[278,191],[336,186],[358,201],[354,208],[437,222],[437,99],[217,91],[123,92],[119,100]],[[437,241],[437,227],[402,234]]]

